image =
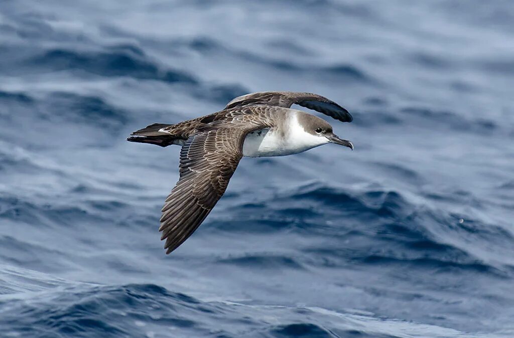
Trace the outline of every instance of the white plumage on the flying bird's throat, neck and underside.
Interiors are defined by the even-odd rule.
[[[279,126],[248,134],[243,144],[243,156],[285,156],[328,143],[326,137],[307,133],[299,123],[297,114],[298,112],[293,111],[287,117],[283,126],[285,130],[279,130]]]

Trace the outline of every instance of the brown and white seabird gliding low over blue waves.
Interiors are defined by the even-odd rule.
[[[350,113],[322,96],[265,91],[240,96],[214,114],[177,124],[154,123],[127,138],[166,147],[182,146],[180,178],[162,207],[159,231],[167,254],[200,226],[227,189],[243,156],[284,156],[325,143],[353,143],[337,137],[325,120],[292,104],[314,109],[342,122]]]

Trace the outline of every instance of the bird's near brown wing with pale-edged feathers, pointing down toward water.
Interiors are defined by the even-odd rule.
[[[199,227],[223,196],[250,130],[217,128],[191,135],[180,151],[180,179],[162,207],[167,254]]]

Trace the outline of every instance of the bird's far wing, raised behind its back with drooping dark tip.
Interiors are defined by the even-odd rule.
[[[342,122],[352,122],[353,117],[334,101],[325,97],[306,92],[293,91],[262,91],[240,96],[230,101],[225,109],[243,106],[246,104],[268,104],[290,108],[293,104],[314,109]]]

